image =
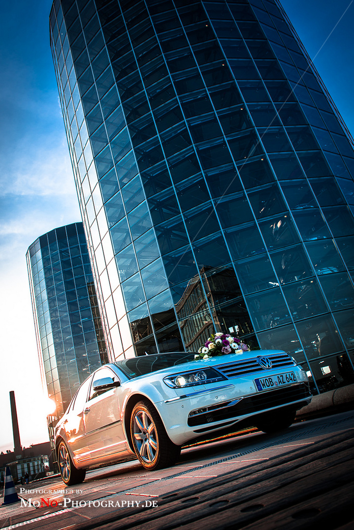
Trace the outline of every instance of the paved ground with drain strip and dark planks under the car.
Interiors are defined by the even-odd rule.
[[[149,523],[152,530],[289,530],[324,518],[331,522],[324,528],[344,530],[352,524],[342,514],[354,500],[353,430],[354,411],[348,411],[295,423],[277,435],[254,431],[187,448],[178,464],[162,471],[147,472],[132,461],[91,471],[66,490],[58,478],[33,482],[30,491],[17,487],[21,503],[0,507],[0,528],[110,530],[119,522],[120,529]]]

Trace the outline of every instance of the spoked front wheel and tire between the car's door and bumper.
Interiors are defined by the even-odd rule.
[[[148,401],[139,401],[131,412],[130,435],[140,463],[148,470],[173,465],[181,454],[167,435],[156,409]]]

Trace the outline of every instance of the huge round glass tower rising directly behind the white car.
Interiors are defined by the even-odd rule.
[[[111,359],[213,331],[354,382],[352,139],[273,0],[55,0]]]

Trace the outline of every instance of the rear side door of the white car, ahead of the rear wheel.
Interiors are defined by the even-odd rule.
[[[92,376],[87,378],[78,389],[63,424],[68,447],[71,449],[77,462],[90,460],[90,449],[86,441],[83,409],[87,401],[91,379]]]

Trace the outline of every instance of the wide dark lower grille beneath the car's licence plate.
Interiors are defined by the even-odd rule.
[[[255,394],[249,396],[249,398],[243,398],[240,401],[236,399],[194,410],[190,412],[187,423],[190,427],[195,427],[205,423],[255,414],[265,409],[281,407],[282,405],[287,405],[294,401],[306,400],[310,397],[311,393],[309,392],[307,383],[286,386],[270,392]],[[201,429],[200,432],[202,430],[208,429]]]

